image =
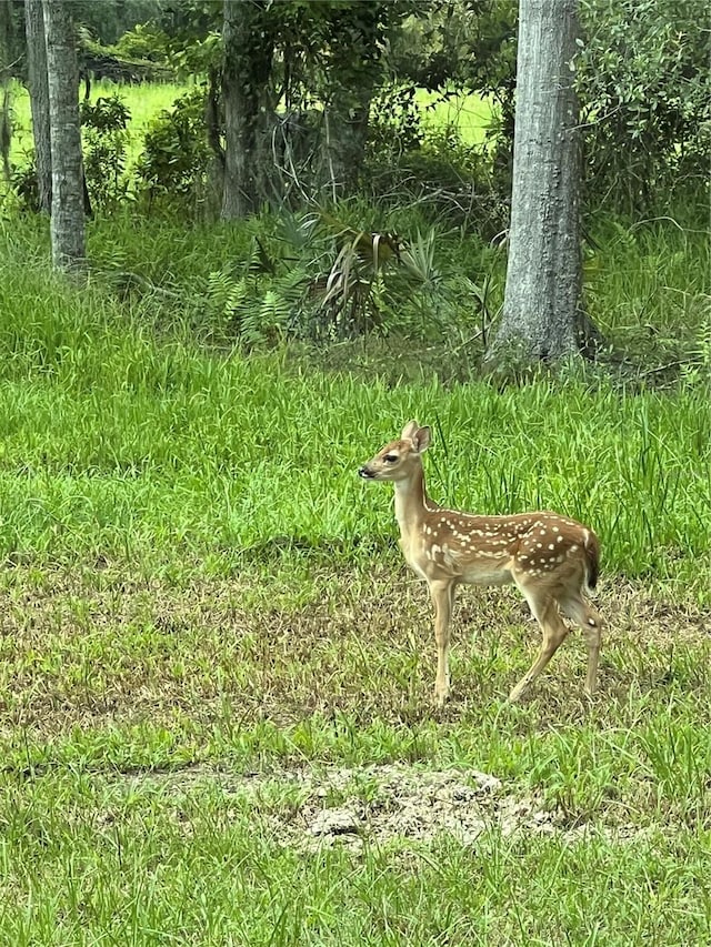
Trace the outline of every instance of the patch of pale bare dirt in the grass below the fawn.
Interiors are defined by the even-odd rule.
[[[178,795],[196,784],[217,780],[226,794],[247,798],[283,846],[302,852],[343,846],[360,852],[365,845],[391,842],[433,842],[447,834],[474,845],[484,833],[561,835],[573,842],[589,833],[623,843],[643,829],[585,823],[571,825],[562,812],[544,806],[539,795],[514,796],[495,776],[474,769],[420,769],[404,764],[359,769],[297,768],[264,776],[229,776],[198,767],[191,774],[148,777]],[[296,789],[299,802],[274,812],[263,804],[267,784],[278,780]]]

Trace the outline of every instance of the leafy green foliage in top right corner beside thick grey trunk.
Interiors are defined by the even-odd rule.
[[[583,12],[578,68],[591,190],[633,209],[708,183],[707,4],[588,0]]]

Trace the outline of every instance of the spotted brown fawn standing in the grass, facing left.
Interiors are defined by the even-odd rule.
[[[560,609],[584,631],[585,693],[597,687],[602,622],[583,598],[598,581],[600,544],[581,523],[548,511],[513,516],[474,516],[445,510],[427,495],[422,454],[430,429],[405,424],[398,441],[363,464],[364,480],[392,481],[400,545],[410,568],[423,578],[434,604],[437,681],[434,699],[449,695],[449,624],[457,586],[508,585],[520,590],[543,632],[541,649],[509,695],[518,701],[568,635]]]

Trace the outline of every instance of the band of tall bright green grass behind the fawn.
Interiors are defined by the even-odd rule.
[[[385,491],[354,471],[410,416],[437,431],[431,492],[487,512],[552,507],[599,531],[605,568],[708,595],[711,416],[700,377],[625,391],[575,372],[493,391],[395,387],[304,370],[288,351],[200,351],[99,286],[4,270],[1,552],[266,555],[284,544],[368,562],[389,546]]]

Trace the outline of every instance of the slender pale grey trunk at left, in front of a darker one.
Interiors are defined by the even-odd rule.
[[[42,0],[52,155],[52,262],[76,270],[86,262],[84,194],[79,127],[79,69],[71,8]]]

